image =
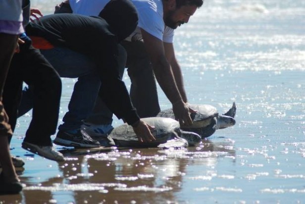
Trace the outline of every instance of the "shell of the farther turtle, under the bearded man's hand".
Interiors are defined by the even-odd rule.
[[[188,126],[187,128],[204,128],[210,125],[213,122],[213,118],[218,116],[217,109],[208,104],[189,104],[194,110],[197,110],[196,113],[191,113],[191,118],[193,120],[193,125]],[[157,114],[157,117],[169,117],[175,118],[173,109],[162,110]],[[185,128],[184,126],[181,127]]]

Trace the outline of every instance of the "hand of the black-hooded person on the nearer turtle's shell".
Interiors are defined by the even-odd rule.
[[[150,126],[143,120],[140,120],[139,123],[135,127],[133,127],[133,129],[140,142],[150,143],[155,141],[155,138],[151,133],[151,130],[154,129],[154,127]]]

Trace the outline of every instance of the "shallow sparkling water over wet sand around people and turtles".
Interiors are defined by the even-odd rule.
[[[56,4],[32,2],[45,13]],[[66,151],[57,163],[21,149],[29,112],[11,151],[26,161],[26,187],[0,203],[305,203],[304,17],[302,0],[205,1],[177,29],[176,55],[189,102],[220,113],[236,102],[234,127],[197,147]],[[63,79],[60,119],[74,82]]]

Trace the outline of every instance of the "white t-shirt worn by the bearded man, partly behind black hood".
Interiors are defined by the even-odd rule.
[[[73,13],[97,16],[110,0],[69,0]],[[173,43],[174,30],[163,21],[162,0],[131,0],[138,10],[139,24],[128,41],[142,39],[140,28],[165,43]]]

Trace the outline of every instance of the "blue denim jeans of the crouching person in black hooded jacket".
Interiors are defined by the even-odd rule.
[[[101,111],[98,113],[92,112],[101,87],[101,79],[96,72],[96,64],[93,60],[82,53],[62,47],[41,50],[41,53],[52,64],[60,77],[78,78],[68,105],[68,112],[64,115],[63,124],[58,129],[62,131],[80,129],[83,120],[91,114],[93,120],[96,119],[99,120],[99,123],[110,124],[112,122],[112,112],[101,99],[98,99],[99,108],[102,108]],[[119,59],[123,63],[121,70],[124,71],[126,52],[121,46],[119,47]],[[19,115],[31,109],[31,95],[31,87],[29,90],[24,90]]]

